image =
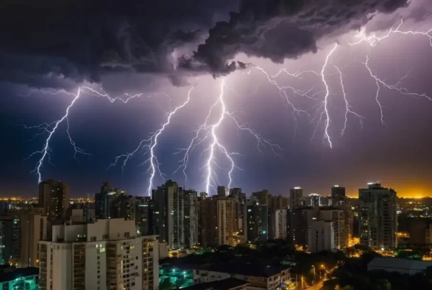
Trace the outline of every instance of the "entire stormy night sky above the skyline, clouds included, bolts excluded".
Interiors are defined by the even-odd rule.
[[[380,181],[400,196],[432,196],[432,32],[396,32],[373,47],[366,41],[350,45],[361,40],[360,35],[384,37],[401,19],[400,32],[431,30],[432,2],[156,3],[0,4],[2,196],[37,194],[38,174],[31,171],[43,152],[26,158],[43,151],[49,132],[25,126],[60,120],[80,86],[123,101],[128,98],[124,93],[142,94],[125,103],[82,93],[68,118],[59,123],[40,173],[42,179],[68,182],[73,196],[97,192],[103,181],[133,195],[146,195],[152,172],[146,148],[139,148],[123,170],[124,158],[110,164],[116,156],[137,149],[143,139],[154,142],[152,134],[167,122],[169,112],[186,102],[189,91],[190,101],[171,116],[154,146],[160,171],[181,185],[205,190],[214,131],[218,144],[233,153],[232,187],[247,194],[266,188],[287,196],[289,188],[299,185],[305,194],[329,195],[330,187],[340,184],[356,196],[367,182]],[[380,83],[383,123],[377,83],[365,65],[368,55],[373,74],[405,93]],[[292,74],[309,72],[275,76],[282,68]],[[362,116],[348,112],[343,135],[347,107],[337,68],[350,111]],[[292,86],[303,93],[286,88],[288,103],[263,70],[279,87]],[[224,113],[218,103],[222,82],[227,114],[220,126],[214,126]],[[207,116],[207,127],[200,127]],[[243,127],[239,129],[231,117]],[[67,121],[75,146],[91,156],[74,154]],[[189,146],[199,128],[185,180],[183,168],[174,174],[184,157],[185,151],[179,149]],[[263,138],[258,148],[257,138],[245,128]],[[154,144],[149,142],[143,144]],[[231,163],[218,144],[217,162],[210,162],[210,185],[228,186]],[[155,171],[154,187],[163,182]]]

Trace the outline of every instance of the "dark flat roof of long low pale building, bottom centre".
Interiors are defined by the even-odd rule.
[[[259,262],[229,262],[205,265],[200,267],[201,270],[240,274],[254,277],[271,277],[279,274],[289,267],[281,264],[263,264]]]

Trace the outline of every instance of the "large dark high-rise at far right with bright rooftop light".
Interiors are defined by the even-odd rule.
[[[380,183],[368,183],[359,189],[360,244],[372,249],[397,247],[396,191]]]

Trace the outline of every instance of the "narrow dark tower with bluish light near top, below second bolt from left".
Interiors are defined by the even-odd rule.
[[[150,197],[135,198],[135,224],[142,236],[153,235],[154,204]]]

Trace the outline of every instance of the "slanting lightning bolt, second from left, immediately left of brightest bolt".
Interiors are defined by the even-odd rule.
[[[146,151],[149,152],[150,157],[147,160],[145,160],[142,164],[146,164],[147,162],[150,163],[150,167],[149,167],[150,177],[149,177],[148,187],[147,187],[148,196],[151,196],[151,194],[152,194],[153,180],[154,180],[154,177],[156,175],[156,171],[159,173],[159,176],[163,180],[165,180],[165,175],[160,170],[159,161],[158,161],[158,158],[154,152],[155,148],[158,144],[158,138],[163,133],[165,128],[167,126],[169,126],[169,124],[171,123],[172,117],[177,113],[177,111],[184,108],[190,102],[190,94],[191,94],[192,90],[193,90],[193,86],[189,89],[189,91],[187,93],[186,101],[183,104],[181,104],[180,106],[177,106],[170,113],[168,113],[168,117],[167,117],[165,123],[163,123],[162,126],[158,130],[156,130],[155,133],[153,133],[149,138],[142,140],[140,142],[140,144],[138,145],[138,147],[134,151],[132,151],[131,153],[126,153],[126,154],[122,154],[122,155],[117,156],[115,158],[114,163],[112,163],[110,165],[110,167],[115,166],[117,164],[117,162],[119,161],[119,159],[123,158],[124,159],[123,165],[122,165],[122,169],[123,169],[126,166],[128,160],[131,159],[138,151],[140,151],[141,149],[147,149]]]

